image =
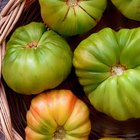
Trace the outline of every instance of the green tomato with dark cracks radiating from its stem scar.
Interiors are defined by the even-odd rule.
[[[99,22],[107,0],[39,0],[39,3],[48,27],[72,36],[89,31]]]

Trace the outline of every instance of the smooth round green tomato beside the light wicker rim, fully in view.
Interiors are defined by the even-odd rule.
[[[2,75],[7,85],[22,94],[52,89],[71,71],[72,51],[68,43],[44,24],[19,27],[7,43]]]

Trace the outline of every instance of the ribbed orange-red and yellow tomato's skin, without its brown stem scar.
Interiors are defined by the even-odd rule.
[[[88,107],[70,90],[50,90],[37,95],[26,118],[26,140],[55,140],[59,128],[64,131],[64,140],[88,140],[91,130]]]

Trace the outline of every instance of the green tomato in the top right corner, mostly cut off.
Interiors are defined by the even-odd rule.
[[[140,21],[140,0],[111,0],[127,18]]]

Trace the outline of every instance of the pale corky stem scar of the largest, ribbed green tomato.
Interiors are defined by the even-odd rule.
[[[125,72],[125,70],[127,70],[127,68],[125,66],[123,66],[121,64],[117,64],[117,65],[111,67],[111,75],[120,76]]]

